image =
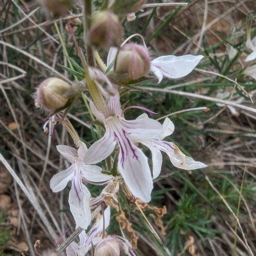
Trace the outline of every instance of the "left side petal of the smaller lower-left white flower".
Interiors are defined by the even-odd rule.
[[[50,188],[52,192],[59,192],[67,186],[67,183],[72,180],[74,172],[73,164],[66,170],[61,171],[52,176],[50,180]]]

